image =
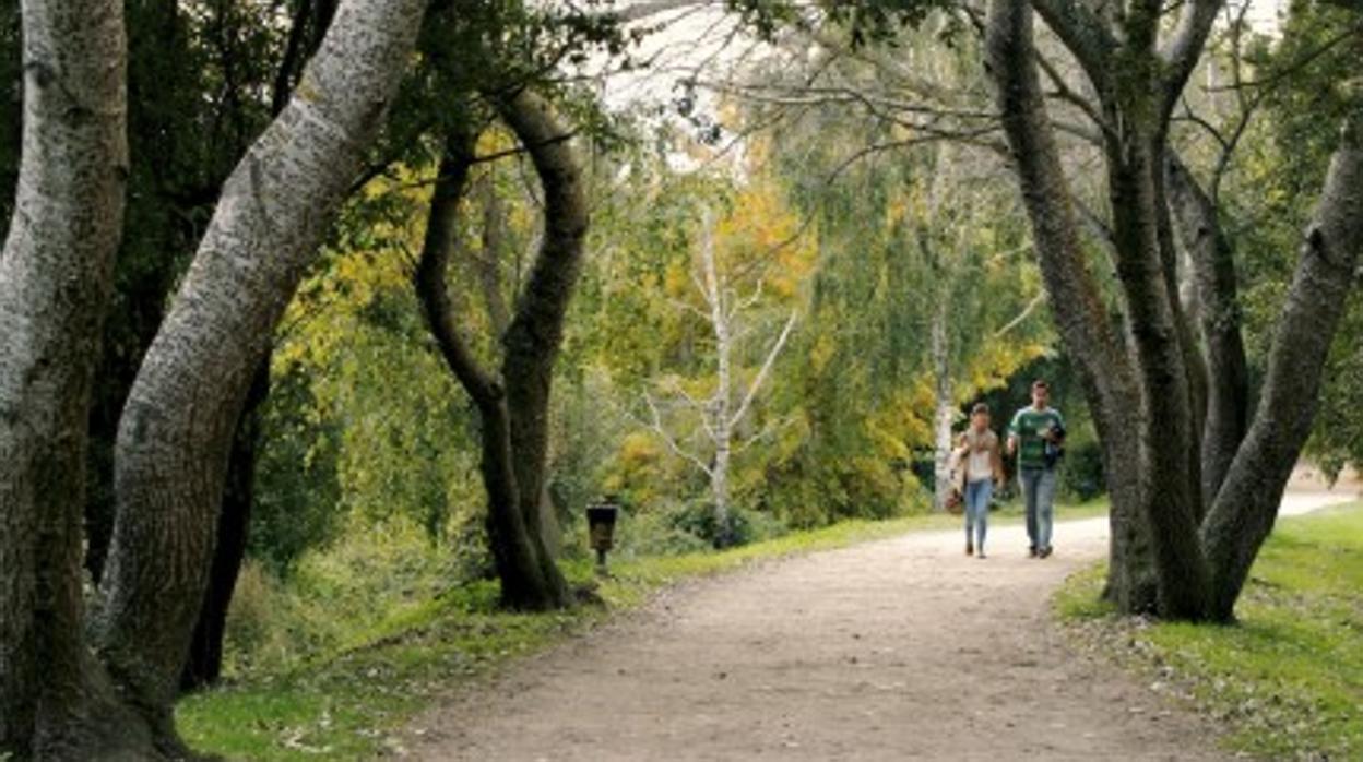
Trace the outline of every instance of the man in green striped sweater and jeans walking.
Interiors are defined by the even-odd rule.
[[[1065,418],[1047,405],[1051,390],[1045,380],[1032,382],[1032,406],[1013,416],[1009,424],[1009,455],[1018,455],[1018,480],[1026,504],[1029,555],[1051,555],[1051,529],[1055,519],[1055,466],[1065,442]]]

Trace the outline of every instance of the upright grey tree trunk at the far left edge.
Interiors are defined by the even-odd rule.
[[[23,157],[0,254],[0,757],[113,757],[138,732],[86,652],[80,562],[128,174],[123,4],[25,0],[22,12]]]

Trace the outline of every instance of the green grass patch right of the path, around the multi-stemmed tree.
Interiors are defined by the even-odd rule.
[[[1265,544],[1236,626],[1141,623],[1094,603],[1103,570],[1071,578],[1059,616],[1270,759],[1363,758],[1363,503],[1288,518]]]

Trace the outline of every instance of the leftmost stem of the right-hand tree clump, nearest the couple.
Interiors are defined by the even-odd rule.
[[[1107,596],[1123,611],[1149,611],[1154,607],[1152,559],[1142,510],[1149,483],[1135,466],[1141,461],[1134,433],[1141,420],[1139,386],[1084,256],[1079,222],[1032,63],[1032,8],[1026,0],[990,4],[985,42],[1047,296],[1062,339],[1079,360],[1085,395],[1103,440],[1112,495]]]

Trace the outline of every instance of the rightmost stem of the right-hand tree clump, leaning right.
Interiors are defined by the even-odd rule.
[[[1202,526],[1212,609],[1231,620],[1250,566],[1277,518],[1298,453],[1311,432],[1321,378],[1363,260],[1363,106],[1330,161],[1315,219],[1269,353],[1254,421]]]

